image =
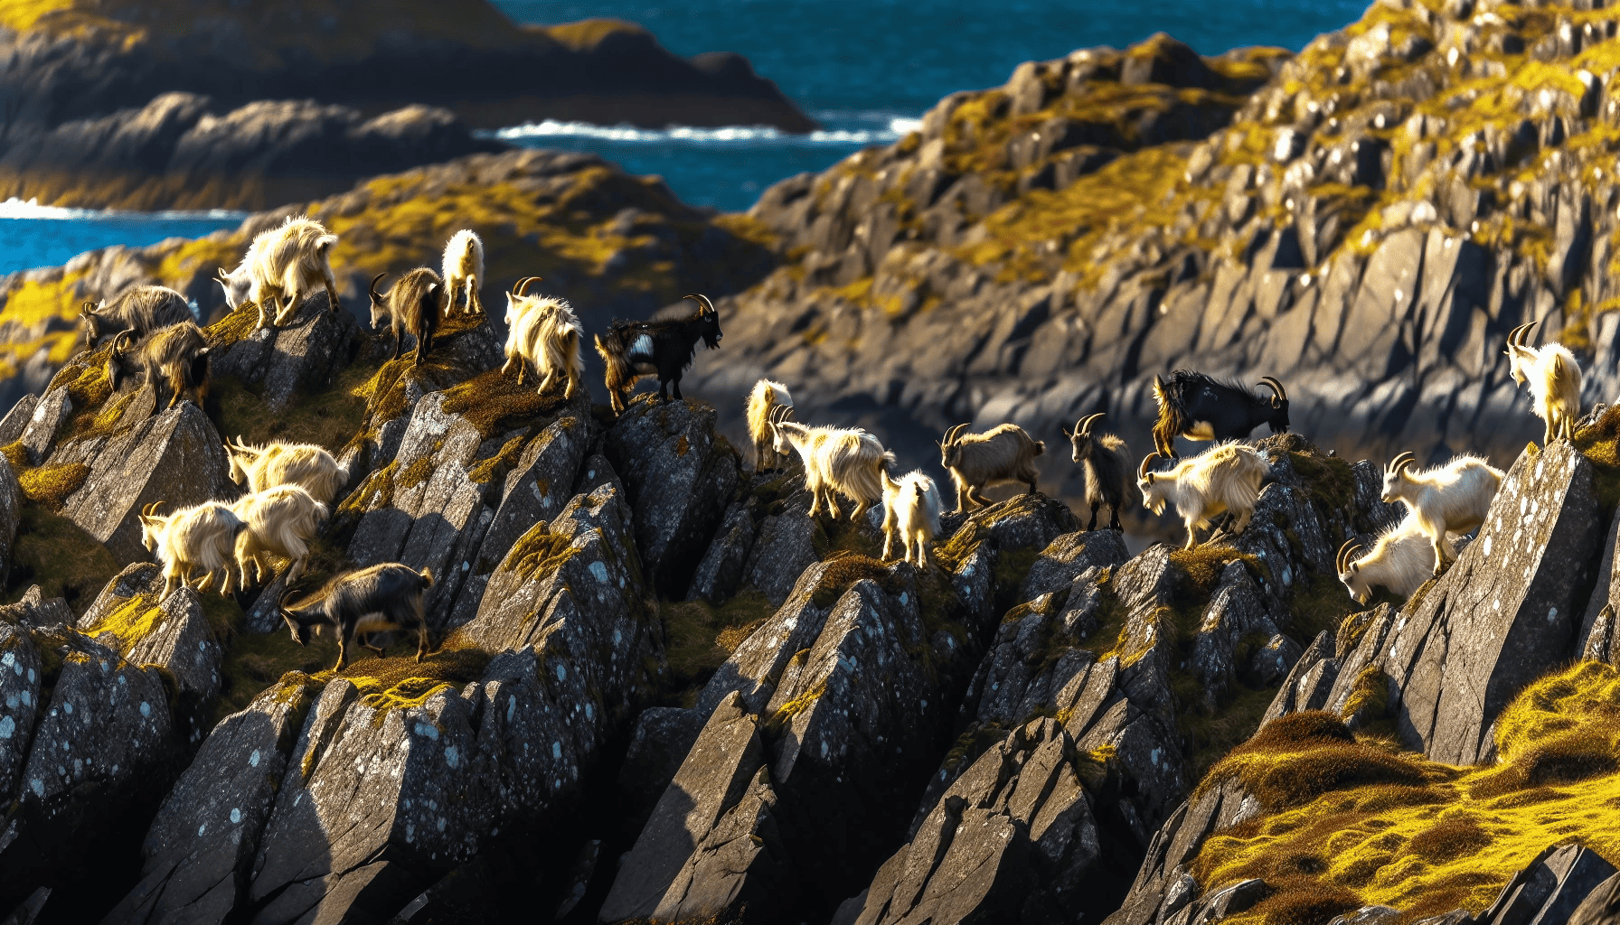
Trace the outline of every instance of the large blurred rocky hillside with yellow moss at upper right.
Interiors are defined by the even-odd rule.
[[[748,214],[791,259],[723,305],[739,350],[701,373],[919,452],[1089,411],[1145,447],[1153,374],[1277,376],[1324,447],[1505,467],[1539,434],[1513,326],[1614,399],[1617,21],[1380,0],[1293,57],[1160,37],[1025,63],[768,190]]]

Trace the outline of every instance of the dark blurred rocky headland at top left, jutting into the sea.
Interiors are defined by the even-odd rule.
[[[267,209],[471,151],[470,128],[815,121],[745,58],[486,0],[60,0],[0,11],[0,196]]]

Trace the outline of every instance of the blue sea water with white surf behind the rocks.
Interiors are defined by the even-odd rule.
[[[886,144],[948,92],[1006,81],[1025,60],[1128,45],[1165,31],[1204,53],[1238,45],[1301,49],[1361,16],[1366,0],[494,0],[522,23],[616,16],[642,23],[680,55],[740,52],[823,131],[544,121],[502,138],[595,151],[632,173],[658,173],[685,201],[747,209],[771,183]],[[86,249],[141,246],[233,227],[233,214],[99,214],[0,204],[0,274],[60,264]]]

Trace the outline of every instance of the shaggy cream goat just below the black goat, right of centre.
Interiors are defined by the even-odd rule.
[[[1260,497],[1260,483],[1268,467],[1254,447],[1238,442],[1215,444],[1202,454],[1181,460],[1165,471],[1150,471],[1160,454],[1149,454],[1136,471],[1136,486],[1142,491],[1142,507],[1155,515],[1166,504],[1176,507],[1187,526],[1186,549],[1197,546],[1197,530],[1209,526],[1210,518],[1230,510],[1236,522],[1233,533],[1243,533],[1254,515],[1254,502]],[[1213,539],[1213,536],[1210,536]]]

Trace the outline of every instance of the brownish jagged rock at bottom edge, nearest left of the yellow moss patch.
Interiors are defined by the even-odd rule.
[[[988,748],[834,922],[1068,922],[1100,846],[1076,748],[1053,719]]]

